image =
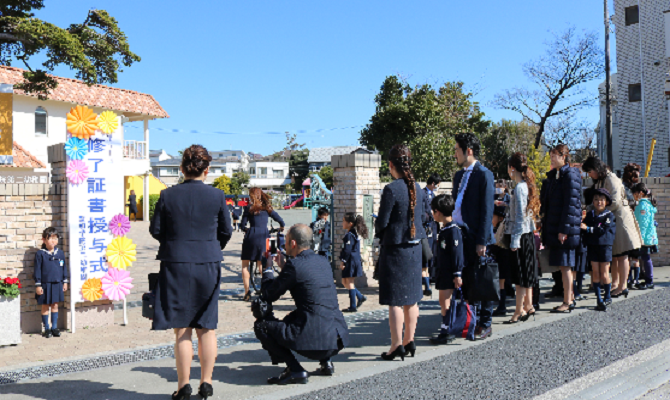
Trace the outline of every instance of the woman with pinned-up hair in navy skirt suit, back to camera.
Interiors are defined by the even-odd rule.
[[[198,335],[201,378],[199,394],[213,393],[212,371],[217,355],[216,326],[219,320],[221,250],[233,232],[226,194],[204,180],[212,157],[202,146],[184,151],[181,171],[184,183],[161,192],[149,231],[160,242],[161,261],[153,329],[174,329],[178,391],[173,399],[187,399],[193,344]]]

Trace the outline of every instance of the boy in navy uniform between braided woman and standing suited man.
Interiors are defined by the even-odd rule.
[[[430,338],[432,344],[448,344],[455,339],[449,334],[451,296],[454,290],[463,285],[461,272],[465,264],[463,258],[463,237],[461,229],[453,223],[454,199],[441,194],[430,204],[433,218],[441,228],[437,235],[437,254],[435,255],[435,289],[439,291],[442,324],[440,333]]]

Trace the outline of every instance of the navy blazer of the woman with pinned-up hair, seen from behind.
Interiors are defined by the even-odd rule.
[[[157,260],[208,263],[223,260],[233,234],[223,190],[191,179],[161,192],[149,232],[160,242]]]

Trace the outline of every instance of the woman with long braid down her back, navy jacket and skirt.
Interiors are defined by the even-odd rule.
[[[406,354],[414,356],[414,332],[421,300],[421,239],[426,238],[423,191],[414,180],[412,156],[405,145],[395,145],[389,153],[389,169],[395,181],[382,192],[376,236],[382,245],[379,256],[379,304],[389,306],[391,348],[384,360]],[[403,324],[405,337],[403,338]]]

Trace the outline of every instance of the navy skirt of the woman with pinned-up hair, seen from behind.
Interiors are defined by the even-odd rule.
[[[156,285],[153,330],[216,329],[221,262],[162,261]]]

